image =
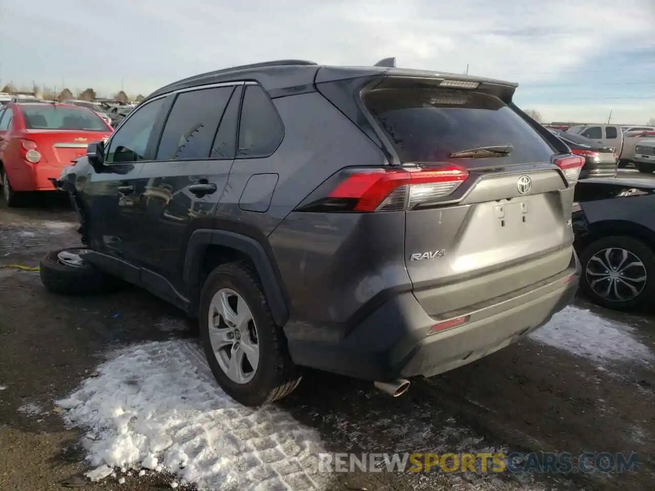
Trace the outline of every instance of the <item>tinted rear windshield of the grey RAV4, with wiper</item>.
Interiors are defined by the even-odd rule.
[[[448,160],[454,152],[506,144],[514,145],[514,151],[493,158],[495,162],[548,162],[553,155],[532,126],[489,94],[394,88],[365,94],[364,104],[390,137],[402,162]]]

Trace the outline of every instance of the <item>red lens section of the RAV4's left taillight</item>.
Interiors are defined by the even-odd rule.
[[[353,211],[374,211],[394,189],[404,185],[457,183],[466,181],[468,172],[445,165],[436,170],[362,170],[346,177],[329,193],[329,198],[356,198]]]

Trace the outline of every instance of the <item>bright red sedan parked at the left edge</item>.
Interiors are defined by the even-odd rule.
[[[109,137],[111,126],[90,109],[45,102],[9,103],[0,109],[0,186],[7,206],[22,192],[54,191],[59,177],[86,145]]]

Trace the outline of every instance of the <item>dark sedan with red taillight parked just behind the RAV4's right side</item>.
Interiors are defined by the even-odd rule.
[[[584,157],[584,167],[580,179],[588,177],[614,177],[618,168],[618,154],[615,147],[606,147],[602,143],[586,136],[554,131],[553,133],[571,149],[574,155]]]

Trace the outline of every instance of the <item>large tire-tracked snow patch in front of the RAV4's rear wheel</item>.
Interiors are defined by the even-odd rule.
[[[327,485],[317,473],[317,433],[282,410],[248,409],[227,397],[193,342],[121,350],[58,405],[68,424],[89,431],[83,443],[92,479],[112,467],[145,467],[215,490]]]

